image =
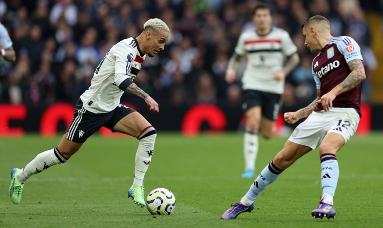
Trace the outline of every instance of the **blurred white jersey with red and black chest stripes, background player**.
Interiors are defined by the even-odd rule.
[[[296,51],[290,35],[281,28],[273,27],[265,36],[259,36],[255,29],[244,31],[235,47],[236,54],[247,54],[242,89],[282,94],[284,80],[274,80],[274,73],[281,71],[285,57]]]

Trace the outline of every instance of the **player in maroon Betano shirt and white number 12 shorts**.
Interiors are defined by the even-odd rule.
[[[366,79],[361,48],[349,36],[333,37],[330,22],[323,16],[313,16],[301,26],[305,46],[319,51],[312,63],[317,84],[317,99],[306,108],[285,113],[288,123],[307,117],[295,128],[283,149],[261,171],[239,203],[221,216],[235,219],[254,209],[254,201],[278,176],[297,159],[319,147],[322,196],[314,218],[335,218],[335,189],[339,178],[335,154],[355,134],[361,116],[361,88]]]

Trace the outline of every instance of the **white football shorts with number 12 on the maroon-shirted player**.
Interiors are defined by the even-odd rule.
[[[326,134],[332,132],[341,134],[347,142],[357,131],[359,119],[358,112],[353,108],[332,108],[327,112],[313,112],[295,128],[289,141],[314,150]]]

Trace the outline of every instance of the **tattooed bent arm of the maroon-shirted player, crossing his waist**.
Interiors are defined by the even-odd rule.
[[[365,68],[363,67],[362,60],[354,59],[348,63],[351,73],[339,85],[334,87],[329,93],[323,95],[316,103],[322,103],[323,109],[327,112],[333,108],[334,99],[354,87],[366,79]]]

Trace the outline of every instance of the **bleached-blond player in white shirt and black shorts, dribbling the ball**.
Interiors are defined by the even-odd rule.
[[[149,19],[138,37],[124,39],[110,49],[96,68],[91,86],[80,96],[72,122],[58,146],[38,154],[23,169],[12,169],[9,196],[14,204],[20,202],[23,184],[29,177],[66,162],[89,136],[105,126],[139,139],[134,181],[128,197],[135,204],[145,206],[143,179],[152,159],[157,132],[141,114],[120,105],[120,98],[124,92],[136,95],[144,99],[151,112],[159,112],[157,102],[138,88],[133,79],[146,55],[153,57],[164,50],[169,32],[162,20]]]

